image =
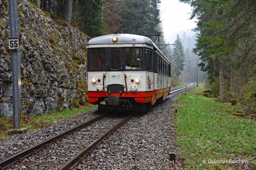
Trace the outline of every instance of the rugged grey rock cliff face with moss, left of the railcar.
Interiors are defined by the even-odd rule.
[[[18,0],[23,114],[77,107],[86,100],[88,37],[26,0]],[[57,21],[57,19],[56,19]],[[59,21],[60,23],[61,21]],[[63,24],[64,23],[64,24]],[[8,0],[0,0],[0,115],[12,116]]]

